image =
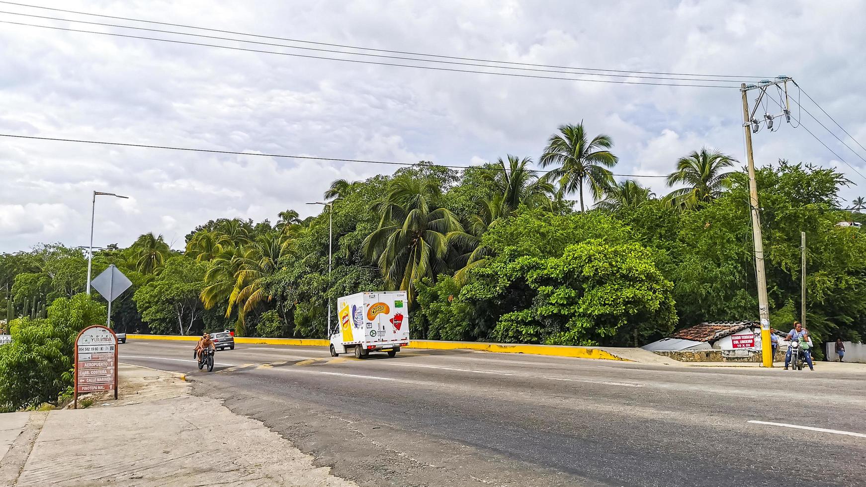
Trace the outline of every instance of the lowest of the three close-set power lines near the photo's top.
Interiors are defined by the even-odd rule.
[[[266,51],[263,49],[250,49],[250,48],[234,48],[230,46],[220,46],[217,44],[207,44],[204,42],[190,42],[190,41],[178,41],[173,39],[159,39],[157,37],[146,37],[144,35],[128,35],[128,34],[116,34],[111,32],[97,32],[94,30],[83,30],[83,29],[69,29],[65,27],[54,27],[48,25],[37,25],[34,23],[25,23],[25,22],[11,22],[6,20],[0,20],[0,23],[9,23],[13,25],[23,25],[26,27],[38,27],[42,29],[54,29],[54,30],[65,30],[68,32],[81,32],[86,34],[97,34],[97,35],[112,35],[115,37],[127,37],[131,39],[144,39],[147,41],[159,41],[159,42],[172,42],[176,44],[187,44],[191,46],[204,46],[208,48],[223,48],[223,49],[231,49],[235,51],[247,51],[251,53],[262,53],[262,54],[281,54],[293,57],[302,57],[309,59],[322,59],[328,61],[343,61],[343,62],[354,62],[359,64],[375,64],[379,66],[397,66],[397,67],[414,67],[417,69],[430,69],[434,71],[449,71],[454,73],[475,73],[475,74],[495,74],[498,76],[514,76],[516,78],[533,78],[540,80],[566,80],[566,81],[585,81],[590,83],[613,83],[618,85],[650,85],[656,87],[703,87],[703,88],[727,88],[733,89],[734,87],[726,87],[723,85],[692,85],[692,84],[682,84],[682,83],[656,83],[656,82],[647,82],[647,81],[621,81],[621,80],[589,80],[586,78],[565,78],[560,76],[541,76],[539,74],[515,74],[515,73],[498,73],[494,71],[475,71],[471,69],[457,69],[454,67],[434,67],[434,66],[417,66],[412,64],[399,64],[393,62],[380,62],[380,61],[361,61],[357,59],[341,59],[341,58],[333,58],[326,56],[316,56],[312,54],[295,54],[295,53],[281,53],[276,51]],[[347,53],[348,54],[348,53]],[[492,67],[491,68],[496,68]],[[579,73],[576,73],[579,74]],[[589,74],[590,76],[595,76],[596,74]]]

